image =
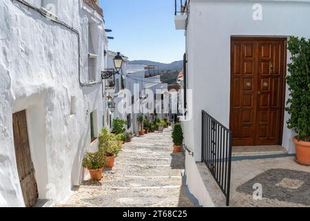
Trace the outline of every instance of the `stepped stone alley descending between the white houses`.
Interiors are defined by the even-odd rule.
[[[172,153],[170,128],[134,137],[101,182],[84,182],[58,206],[195,206],[183,186],[184,164],[183,153]]]

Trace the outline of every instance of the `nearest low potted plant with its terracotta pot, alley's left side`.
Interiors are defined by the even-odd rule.
[[[90,177],[92,180],[102,179],[102,169],[107,165],[107,157],[99,152],[87,153],[83,157],[83,167],[90,171]]]

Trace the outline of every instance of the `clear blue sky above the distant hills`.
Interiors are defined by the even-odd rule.
[[[101,0],[109,50],[130,60],[170,63],[183,59],[184,31],[174,28],[173,0]]]

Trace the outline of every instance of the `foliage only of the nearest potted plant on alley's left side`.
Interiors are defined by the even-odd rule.
[[[107,165],[107,157],[99,152],[86,153],[83,158],[83,167],[90,170],[97,170]]]

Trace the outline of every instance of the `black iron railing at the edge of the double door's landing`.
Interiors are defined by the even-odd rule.
[[[203,111],[202,162],[205,162],[229,206],[231,177],[231,131]]]

